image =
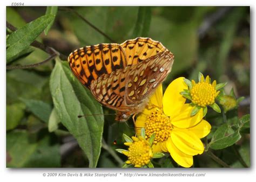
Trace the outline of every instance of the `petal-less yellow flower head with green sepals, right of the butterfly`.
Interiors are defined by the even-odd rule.
[[[207,75],[206,78],[204,78],[204,75],[200,72],[198,75],[198,80],[199,82],[196,83],[194,80],[190,81],[184,79],[188,89],[184,89],[182,92],[180,92],[180,94],[186,97],[186,99],[191,100],[192,106],[196,106],[192,110],[191,116],[197,114],[198,110],[201,108],[203,108],[203,113],[205,116],[207,113],[207,106],[210,106],[213,108],[213,110],[220,113],[220,108],[218,104],[215,103],[215,99],[220,93],[218,90],[223,88],[226,83],[217,84],[216,80],[211,83],[210,76]]]

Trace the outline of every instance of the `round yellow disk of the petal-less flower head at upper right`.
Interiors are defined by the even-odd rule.
[[[206,82],[199,82],[191,89],[192,102],[201,107],[214,103],[216,89]]]

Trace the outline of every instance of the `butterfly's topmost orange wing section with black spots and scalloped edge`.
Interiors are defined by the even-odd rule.
[[[137,65],[160,52],[168,51],[159,41],[138,37],[120,44],[125,52],[127,65]]]

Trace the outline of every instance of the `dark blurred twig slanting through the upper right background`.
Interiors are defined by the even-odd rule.
[[[220,8],[218,11],[212,13],[212,15],[205,18],[204,22],[198,29],[198,36],[203,38],[206,32],[212,27],[218,20],[220,20],[228,11],[230,11],[233,7],[223,7]]]

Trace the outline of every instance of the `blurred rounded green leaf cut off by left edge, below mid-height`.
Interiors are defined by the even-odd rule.
[[[14,103],[6,106],[6,130],[17,127],[24,116],[25,104]]]

